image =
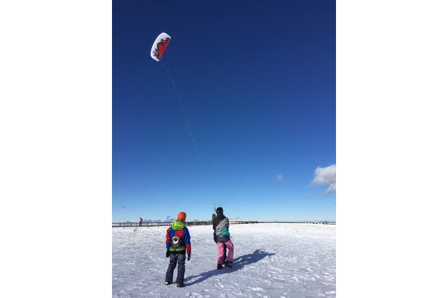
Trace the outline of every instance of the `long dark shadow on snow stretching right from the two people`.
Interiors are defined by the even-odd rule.
[[[260,251],[257,249],[253,253],[248,253],[247,255],[241,255],[238,258],[235,258],[233,260],[233,267],[223,267],[223,269],[213,269],[210,271],[203,272],[201,274],[196,274],[193,276],[188,276],[185,278],[185,281],[188,282],[188,285],[194,285],[195,283],[202,283],[202,281],[205,281],[207,278],[211,276],[217,276],[220,274],[226,274],[231,271],[237,271],[241,268],[243,268],[246,265],[253,264],[255,262],[258,262],[259,260],[262,260],[262,258],[270,257],[271,255],[275,255],[275,253],[265,253],[264,251]]]

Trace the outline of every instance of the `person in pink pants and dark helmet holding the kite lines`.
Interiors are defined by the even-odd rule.
[[[218,261],[216,269],[222,269],[223,265],[232,268],[233,264],[233,243],[230,240],[229,218],[223,214],[223,208],[216,208],[216,218],[213,221],[214,237],[218,244]],[[229,249],[225,256],[225,247]]]

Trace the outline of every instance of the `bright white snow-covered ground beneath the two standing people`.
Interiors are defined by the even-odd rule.
[[[112,229],[113,297],[335,297],[336,225],[230,225],[232,269],[216,269],[211,225],[189,226],[186,288],[164,285],[167,227]],[[176,278],[177,268],[174,270]]]

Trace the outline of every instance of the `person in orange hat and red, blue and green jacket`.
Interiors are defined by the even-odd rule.
[[[165,274],[165,285],[173,283],[173,273],[177,264],[177,278],[176,286],[183,288],[186,283],[183,282],[185,276],[185,255],[187,253],[190,260],[191,256],[191,244],[190,244],[190,232],[185,226],[185,220],[187,214],[185,212],[179,212],[177,220],[167,229],[167,254],[169,258],[169,266],[167,274]]]

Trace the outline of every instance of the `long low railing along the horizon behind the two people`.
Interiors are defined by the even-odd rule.
[[[131,227],[163,227],[172,225],[172,221],[154,221],[151,223],[112,223],[112,228],[131,228]],[[230,220],[232,225],[244,224],[244,223],[311,223],[311,224],[321,224],[321,225],[335,225],[335,221],[238,221]],[[211,225],[211,221],[187,221],[186,225]]]

